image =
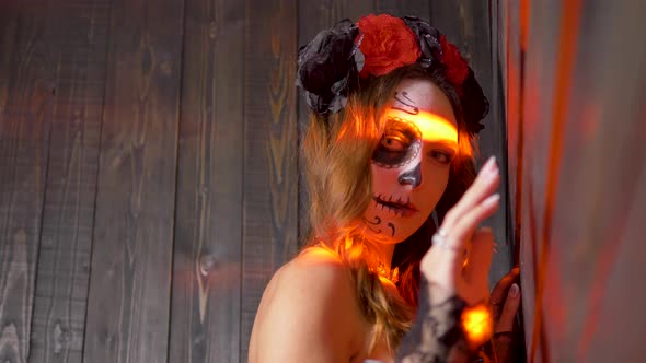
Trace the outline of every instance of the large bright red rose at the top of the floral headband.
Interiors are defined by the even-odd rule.
[[[417,37],[403,20],[391,15],[368,15],[357,23],[357,42],[366,57],[361,77],[383,75],[419,58]],[[361,38],[362,37],[362,38]]]

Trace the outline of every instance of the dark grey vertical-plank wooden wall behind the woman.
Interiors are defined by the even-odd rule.
[[[307,231],[298,46],[370,12],[464,50],[493,105],[482,153],[506,167],[486,2],[0,1],[0,361],[246,361]]]

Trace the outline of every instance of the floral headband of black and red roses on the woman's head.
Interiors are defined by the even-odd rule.
[[[470,132],[478,133],[489,104],[473,70],[453,44],[418,17],[368,15],[320,32],[299,49],[297,85],[312,112],[327,117],[345,107],[360,82],[415,62],[429,72],[443,71],[458,91]]]

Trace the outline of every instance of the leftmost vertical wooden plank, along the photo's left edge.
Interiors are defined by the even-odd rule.
[[[0,361],[26,362],[53,105],[45,1],[2,2]],[[5,67],[5,68],[4,68]]]

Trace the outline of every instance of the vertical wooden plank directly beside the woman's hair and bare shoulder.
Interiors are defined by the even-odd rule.
[[[296,0],[246,2],[241,346],[298,235]]]

